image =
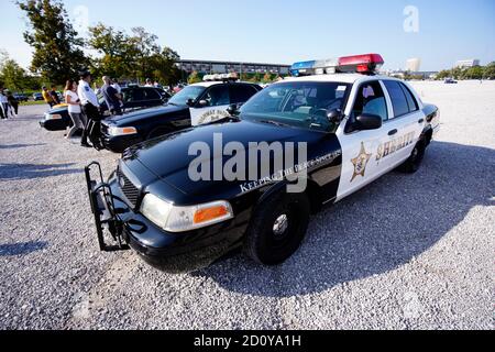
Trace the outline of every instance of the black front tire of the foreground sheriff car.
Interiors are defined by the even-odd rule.
[[[310,204],[305,194],[277,194],[261,204],[244,241],[244,252],[262,265],[278,265],[300,246],[308,229]]]

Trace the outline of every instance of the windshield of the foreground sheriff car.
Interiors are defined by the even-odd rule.
[[[342,109],[350,90],[341,82],[282,82],[265,88],[241,108],[241,118],[329,132],[328,112]]]

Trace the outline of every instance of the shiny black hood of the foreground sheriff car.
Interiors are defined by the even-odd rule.
[[[213,160],[218,161],[220,158],[222,165],[224,165],[231,158],[231,156],[222,155],[212,157],[215,150],[213,135],[216,134],[217,138],[221,135],[222,139],[220,148],[229,142],[241,143],[245,150],[248,150],[250,142],[306,142],[308,144],[308,157],[320,151],[329,150],[322,147],[320,151],[317,151],[317,148],[311,147],[311,145],[321,140],[329,140],[329,134],[326,133],[251,121],[224,120],[224,122],[197,127],[138,144],[124,153],[123,160],[125,163],[141,163],[157,178],[185,194],[200,195],[204,198],[208,194],[211,194],[212,197],[219,197],[227,188],[227,180],[193,182],[188,174],[190,163],[199,155],[199,153],[189,155],[189,147],[198,141],[202,145],[208,145],[210,150],[210,154],[206,155],[205,158],[210,162],[211,169],[213,168]],[[228,184],[239,190],[237,185],[243,182]]]

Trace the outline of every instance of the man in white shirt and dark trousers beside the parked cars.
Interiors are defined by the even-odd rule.
[[[81,146],[85,147],[90,147],[90,145],[88,144],[89,132],[91,132],[91,129],[95,127],[97,129],[96,133],[99,133],[98,127],[101,121],[99,111],[100,103],[98,102],[98,97],[95,94],[95,90],[91,89],[90,84],[91,74],[89,72],[81,73],[79,87],[77,88],[77,95],[79,96],[80,103],[82,106],[82,112],[88,119],[80,142]]]

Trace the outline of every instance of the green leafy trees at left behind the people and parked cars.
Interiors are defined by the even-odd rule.
[[[3,86],[16,90],[38,89],[42,82],[61,86],[84,69],[97,77],[136,82],[150,78],[163,85],[175,85],[184,77],[176,66],[179,55],[160,45],[158,37],[143,28],[127,33],[98,23],[88,29],[88,38],[81,38],[61,0],[23,0],[16,4],[28,19],[24,40],[33,48],[33,58],[28,72],[1,52]]]

